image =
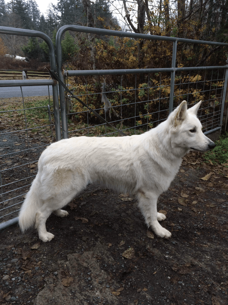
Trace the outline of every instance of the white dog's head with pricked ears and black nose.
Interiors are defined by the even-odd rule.
[[[216,145],[202,132],[202,124],[197,118],[201,101],[187,109],[183,101],[168,117],[172,148],[205,152]]]

